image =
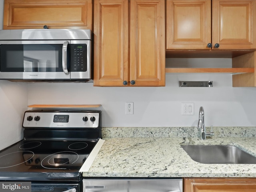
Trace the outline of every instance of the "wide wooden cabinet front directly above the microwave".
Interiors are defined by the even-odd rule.
[[[4,0],[4,29],[92,29],[92,0]]]

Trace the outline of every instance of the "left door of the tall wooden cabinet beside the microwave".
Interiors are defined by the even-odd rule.
[[[94,1],[94,86],[128,82],[128,0]]]

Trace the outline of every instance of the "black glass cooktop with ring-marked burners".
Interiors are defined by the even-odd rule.
[[[2,172],[78,172],[96,141],[22,140],[0,152]]]

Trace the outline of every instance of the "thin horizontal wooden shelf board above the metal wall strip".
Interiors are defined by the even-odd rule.
[[[254,73],[254,68],[165,68],[166,73]]]

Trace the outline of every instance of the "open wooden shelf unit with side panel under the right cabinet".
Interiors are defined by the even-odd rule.
[[[256,51],[169,51],[166,58],[232,58],[232,68],[165,68],[166,73],[231,73],[233,87],[256,87]]]

